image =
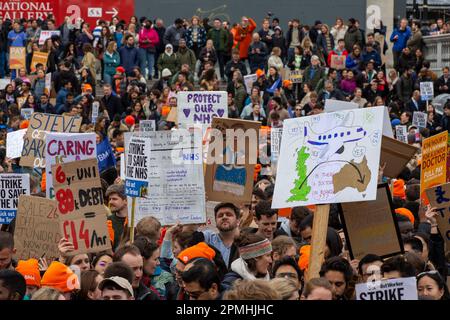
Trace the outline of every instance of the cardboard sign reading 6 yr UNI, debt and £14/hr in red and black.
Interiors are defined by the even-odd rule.
[[[56,164],[52,171],[60,230],[72,254],[111,249],[97,160]]]

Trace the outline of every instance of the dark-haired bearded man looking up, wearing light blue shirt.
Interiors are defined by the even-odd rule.
[[[232,203],[219,203],[214,208],[214,217],[219,233],[203,231],[205,242],[216,247],[222,254],[227,268],[239,258],[234,238],[239,235],[240,210]]]

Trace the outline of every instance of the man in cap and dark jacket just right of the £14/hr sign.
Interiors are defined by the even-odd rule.
[[[108,217],[108,231],[115,251],[122,235],[128,228],[128,204],[123,185],[113,184],[106,190],[106,198],[109,201],[111,215]]]

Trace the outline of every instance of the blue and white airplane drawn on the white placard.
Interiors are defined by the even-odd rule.
[[[328,159],[335,153],[344,152],[344,144],[355,142],[363,139],[367,135],[360,126],[353,126],[354,113],[350,112],[342,120],[342,124],[333,129],[316,133],[311,129],[311,124],[306,123],[304,127],[305,137],[308,138],[307,143],[321,149],[319,158]]]

